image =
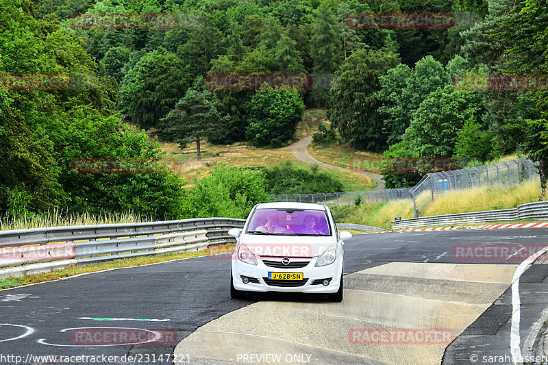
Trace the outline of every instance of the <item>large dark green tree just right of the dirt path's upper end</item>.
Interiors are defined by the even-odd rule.
[[[351,146],[366,151],[386,149],[375,92],[380,89],[379,77],[396,64],[393,53],[360,49],[336,73],[328,117]]]

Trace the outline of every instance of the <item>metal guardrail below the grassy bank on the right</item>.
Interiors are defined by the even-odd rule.
[[[489,223],[498,221],[516,221],[519,219],[547,219],[548,201],[526,203],[512,209],[488,210],[485,212],[471,212],[460,214],[446,214],[442,216],[426,216],[422,218],[408,218],[392,221],[393,229],[429,227],[435,225],[469,225],[475,223]]]

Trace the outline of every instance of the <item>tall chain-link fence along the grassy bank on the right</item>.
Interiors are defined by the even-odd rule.
[[[434,201],[436,195],[451,190],[487,186],[510,187],[531,179],[538,179],[537,164],[522,158],[460,170],[429,173],[412,188],[325,192],[320,194],[277,194],[269,195],[269,197],[272,201],[321,203],[326,205],[353,205],[358,201],[363,203],[384,203],[399,199],[412,199],[415,216],[419,216],[419,210]]]

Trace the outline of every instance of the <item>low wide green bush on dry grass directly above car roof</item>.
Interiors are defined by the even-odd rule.
[[[316,165],[305,168],[288,160],[265,167],[263,171],[269,194],[314,194],[343,190],[342,182],[330,173],[319,171]]]

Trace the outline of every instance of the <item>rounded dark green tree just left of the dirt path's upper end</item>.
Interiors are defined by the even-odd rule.
[[[254,143],[280,145],[295,134],[304,103],[295,90],[258,90],[249,103],[246,138]]]

